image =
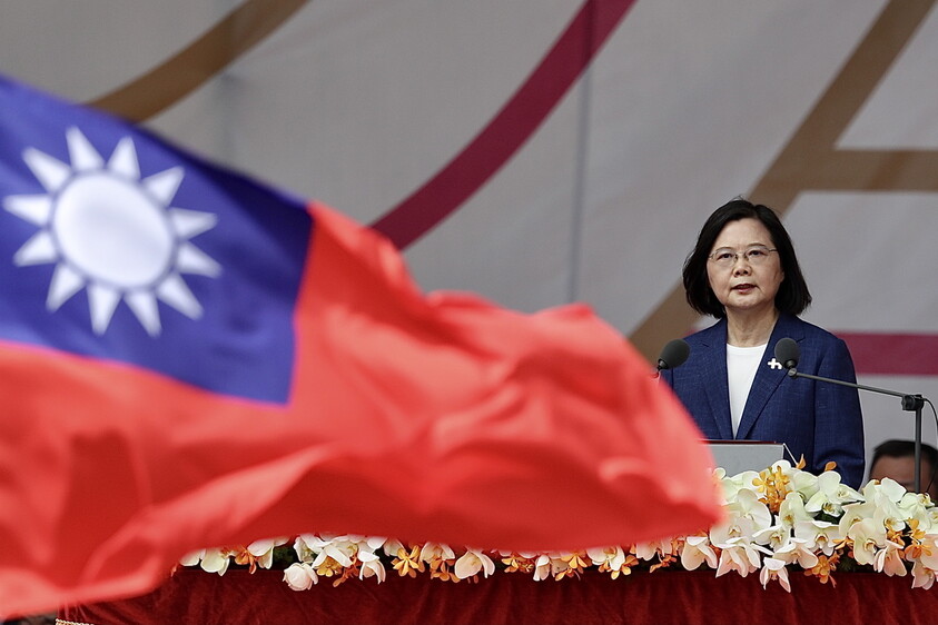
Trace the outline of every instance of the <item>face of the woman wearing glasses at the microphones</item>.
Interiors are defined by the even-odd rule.
[[[728,317],[774,309],[784,279],[774,248],[769,230],[758,219],[738,219],[723,227],[710,250],[707,277]],[[717,260],[720,257],[722,262]]]

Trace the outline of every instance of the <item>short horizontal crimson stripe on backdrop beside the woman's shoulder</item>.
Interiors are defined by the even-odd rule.
[[[858,374],[938,376],[938,335],[835,334],[850,347]]]

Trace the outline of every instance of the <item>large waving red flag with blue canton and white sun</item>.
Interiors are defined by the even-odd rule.
[[[305,532],[709,527],[711,458],[588,307],[422,294],[335,210],[0,79],[0,614]]]

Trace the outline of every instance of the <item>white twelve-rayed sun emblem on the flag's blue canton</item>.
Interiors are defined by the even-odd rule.
[[[78,128],[69,128],[66,139],[70,166],[34,148],[23,151],[48,192],[3,201],[9,212],[40,227],[13,262],[57,264],[46,308],[58,310],[86,287],[98,335],[108,329],[121,299],[154,337],[162,328],[157,299],[198,319],[203,307],[180,274],[220,274],[218,262],[188,240],[214,228],[217,219],[170,208],[182,168],[141,179],[130,137],[120,140],[107,163]]]

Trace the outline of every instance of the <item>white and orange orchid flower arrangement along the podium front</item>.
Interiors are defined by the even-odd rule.
[[[816,476],[780,460],[762,472],[728,476],[714,470],[723,497],[723,520],[687,536],[652,543],[571,553],[488,552],[426,543],[404,545],[366,536],[304,534],[293,539],[259,540],[247,547],[203,549],[182,566],[224,575],[229,564],[283,568],[294,591],[324,578],[385,579],[429,575],[444,582],[477,582],[496,571],[531,575],[535,581],[576,577],[596,567],[612,578],[664,567],[759,574],[762,586],[778,582],[791,592],[789,574],[802,572],[836,585],[836,571],[911,573],[914,588],[930,588],[938,571],[938,508],[927,495],[908,493],[891,479],[871,480],[862,492],[841,484],[828,467]]]

